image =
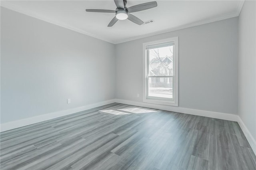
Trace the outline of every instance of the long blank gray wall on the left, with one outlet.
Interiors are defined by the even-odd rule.
[[[1,8],[1,123],[114,99],[114,51],[114,44]]]

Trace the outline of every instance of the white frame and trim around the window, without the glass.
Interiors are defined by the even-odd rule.
[[[155,45],[166,42],[174,42],[174,56],[173,56],[173,100],[161,100],[161,99],[152,99],[147,98],[147,88],[148,88],[148,76],[147,67],[148,67],[148,56],[146,52],[146,46]],[[157,105],[169,105],[169,106],[178,106],[178,37],[168,38],[164,40],[158,40],[154,42],[143,43],[143,102],[152,103]]]

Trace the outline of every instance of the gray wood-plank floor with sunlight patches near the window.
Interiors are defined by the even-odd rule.
[[[236,122],[119,103],[0,135],[1,170],[256,169]]]

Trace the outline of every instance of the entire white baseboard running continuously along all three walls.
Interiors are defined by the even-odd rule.
[[[173,111],[173,112],[178,112],[178,113],[186,113],[186,114],[190,114],[190,115],[211,117],[211,118],[223,119],[223,120],[228,120],[228,121],[236,121],[236,122],[238,122],[239,126],[241,127],[242,131],[244,132],[244,135],[246,136],[250,146],[252,147],[252,150],[256,154],[256,141],[252,137],[252,134],[249,132],[248,128],[244,125],[242,119],[240,119],[240,117],[238,115],[212,112],[212,111],[203,111],[203,110],[196,110],[196,109],[188,109],[188,108],[183,108],[183,107],[155,105],[155,104],[150,104],[150,103],[142,103],[142,102],[136,102],[136,101],[123,100],[123,99],[111,99],[108,101],[102,101],[99,103],[94,103],[94,104],[90,104],[90,105],[86,105],[86,106],[82,106],[82,107],[77,107],[74,109],[68,109],[68,110],[48,113],[48,114],[44,114],[44,115],[40,115],[40,116],[36,116],[36,117],[21,119],[18,121],[3,123],[0,125],[0,127],[1,127],[0,132],[4,132],[4,131],[11,130],[14,128],[24,127],[27,125],[32,125],[34,123],[47,121],[50,119],[62,117],[65,115],[70,115],[73,113],[85,111],[85,110],[92,109],[95,107],[100,107],[103,105],[108,105],[111,103],[123,103],[123,104],[127,104],[127,105],[149,107],[149,108],[153,108],[153,109],[161,109],[161,110]]]

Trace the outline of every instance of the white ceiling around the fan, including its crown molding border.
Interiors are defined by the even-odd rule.
[[[127,0],[127,7],[154,0]],[[156,0],[158,6],[133,15],[154,20],[141,26],[119,20],[107,27],[114,13],[85,12],[85,9],[115,10],[114,0],[1,1],[1,6],[111,43],[126,42],[164,32],[238,16],[243,0]]]

